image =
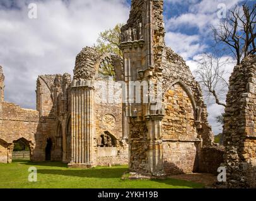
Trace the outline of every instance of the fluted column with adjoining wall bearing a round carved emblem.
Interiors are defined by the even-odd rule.
[[[115,66],[116,79],[122,79],[120,58],[99,55],[88,47],[83,48],[76,57],[71,84],[73,142],[69,166],[90,167],[129,162],[128,145],[124,138],[123,104],[120,100],[114,100],[118,90],[115,89],[116,83],[98,75],[100,63],[106,57],[110,57]]]

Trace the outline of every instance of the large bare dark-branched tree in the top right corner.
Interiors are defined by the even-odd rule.
[[[216,43],[222,43],[230,48],[236,58],[236,64],[248,55],[256,52],[256,4],[249,8],[243,4],[240,8],[236,6],[230,11],[230,16],[223,19],[221,23],[213,27]]]

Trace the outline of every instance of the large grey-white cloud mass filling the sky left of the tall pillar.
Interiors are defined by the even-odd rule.
[[[76,55],[95,43],[100,31],[125,23],[123,0],[34,1],[38,18],[28,18],[30,1],[0,2],[0,65],[6,100],[35,108],[41,74],[72,73]]]

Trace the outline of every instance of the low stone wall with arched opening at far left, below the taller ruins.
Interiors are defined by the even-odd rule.
[[[11,162],[13,141],[25,138],[30,150],[35,148],[35,133],[39,124],[37,111],[22,109],[9,102],[0,102],[0,158],[1,162]]]

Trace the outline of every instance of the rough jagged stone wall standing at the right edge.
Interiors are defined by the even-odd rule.
[[[256,55],[234,68],[224,114],[228,188],[256,188]]]

